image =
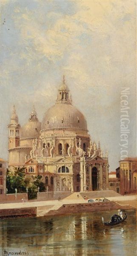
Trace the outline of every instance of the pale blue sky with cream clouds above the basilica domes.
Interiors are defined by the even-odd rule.
[[[12,106],[21,126],[33,105],[42,121],[63,75],[92,140],[108,150],[109,170],[122,149],[136,157],[136,1],[1,1],[0,157],[8,159]],[[122,87],[127,148],[119,145]]]

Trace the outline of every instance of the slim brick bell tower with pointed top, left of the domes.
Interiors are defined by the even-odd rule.
[[[18,123],[18,116],[16,114],[15,106],[11,114],[11,122],[7,126],[9,128],[9,149],[20,146],[20,124]]]

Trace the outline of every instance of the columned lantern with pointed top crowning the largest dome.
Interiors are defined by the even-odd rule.
[[[66,85],[64,75],[63,75],[63,83],[61,84],[61,86],[58,89],[56,104],[58,104],[58,103],[71,104],[71,94],[69,92],[68,86]]]

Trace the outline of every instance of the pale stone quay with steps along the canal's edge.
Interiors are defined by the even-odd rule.
[[[90,195],[92,193],[92,198],[105,197],[105,191],[98,191],[96,193],[73,193],[61,201],[50,200],[5,203],[0,204],[0,218],[41,217],[78,212],[137,209],[137,195],[111,196],[111,193],[107,191],[108,196],[105,198],[107,198],[109,201],[88,203],[88,200],[84,199],[84,195],[88,195],[89,198],[89,193]]]

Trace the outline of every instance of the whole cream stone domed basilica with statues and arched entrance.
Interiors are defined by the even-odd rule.
[[[72,105],[63,77],[55,105],[38,120],[33,108],[19,124],[15,107],[9,129],[9,169],[25,167],[26,175],[41,175],[47,191],[89,192],[108,189],[108,152],[88,134],[83,114]]]

